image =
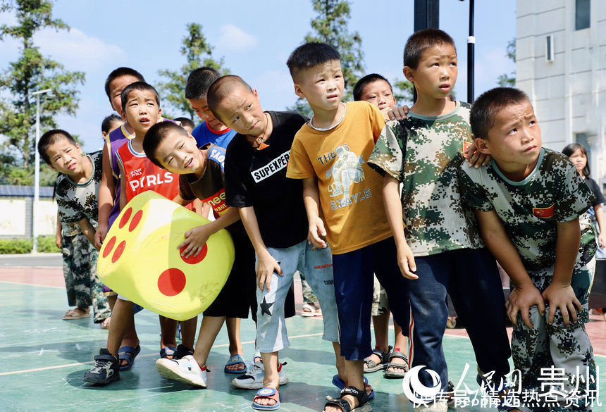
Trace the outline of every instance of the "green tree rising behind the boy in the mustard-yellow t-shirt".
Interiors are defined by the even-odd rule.
[[[341,55],[341,69],[345,80],[343,101],[353,100],[352,89],[364,73],[364,53],[359,33],[350,32],[347,22],[351,17],[348,0],[311,0],[314,11],[318,13],[311,20],[311,30],[304,42],[327,43],[337,49]],[[311,108],[304,99],[298,99],[290,108],[306,116],[311,116]]]

